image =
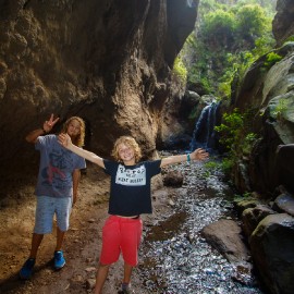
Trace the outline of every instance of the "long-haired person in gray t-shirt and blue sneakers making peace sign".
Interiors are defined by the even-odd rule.
[[[69,230],[71,209],[77,198],[79,170],[86,168],[84,158],[60,146],[57,135],[47,134],[58,121],[59,118],[54,119],[51,114],[41,128],[26,136],[26,140],[34,143],[36,150],[40,151],[40,166],[35,192],[37,207],[32,248],[28,259],[20,271],[21,279],[25,280],[32,277],[44,234],[52,231],[54,215],[57,219],[54,268],[59,270],[64,267],[62,244]],[[62,133],[66,133],[74,145],[82,147],[85,138],[85,122],[78,117],[72,117],[64,123]]]

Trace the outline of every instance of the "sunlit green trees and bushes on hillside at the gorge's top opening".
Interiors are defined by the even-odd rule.
[[[204,94],[230,99],[232,83],[237,85],[246,69],[274,45],[274,1],[201,0],[197,26],[181,52],[187,87],[201,85]]]

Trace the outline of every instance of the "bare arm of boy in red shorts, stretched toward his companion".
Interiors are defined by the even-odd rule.
[[[66,149],[71,150],[72,152],[84,157],[85,159],[91,161],[93,163],[96,163],[97,166],[101,167],[105,169],[105,162],[103,159],[99,156],[97,156],[94,152],[84,150],[77,146],[75,146],[74,144],[72,144],[71,137],[68,134],[60,134],[58,136],[58,142],[65,147]]]

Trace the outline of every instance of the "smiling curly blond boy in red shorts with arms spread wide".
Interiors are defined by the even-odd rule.
[[[109,218],[102,229],[102,249],[96,278],[95,294],[100,294],[111,264],[124,259],[122,293],[133,293],[131,274],[137,265],[138,246],[142,237],[142,213],[151,213],[151,177],[160,173],[161,168],[172,163],[191,160],[204,160],[208,154],[196,149],[188,155],[171,156],[163,159],[138,163],[140,148],[133,137],[122,136],[115,143],[112,156],[115,161],[78,148],[71,143],[66,134],[59,135],[59,142],[69,150],[96,163],[111,175]]]

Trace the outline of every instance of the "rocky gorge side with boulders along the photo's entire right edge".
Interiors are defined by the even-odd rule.
[[[234,183],[252,198],[237,210],[252,258],[266,293],[293,292],[294,273],[294,1],[278,0],[273,34],[277,48],[247,71],[231,107],[249,111],[246,122],[258,136],[241,155]],[[291,38],[290,38],[291,37]]]

